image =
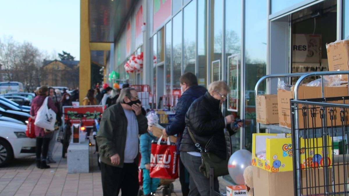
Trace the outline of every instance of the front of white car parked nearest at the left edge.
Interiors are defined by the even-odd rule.
[[[36,139],[25,135],[21,123],[0,120],[0,167],[6,166],[13,158],[35,155]]]

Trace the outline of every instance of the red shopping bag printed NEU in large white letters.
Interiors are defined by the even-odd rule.
[[[176,179],[178,178],[178,155],[176,144],[161,141],[151,144],[150,177]]]

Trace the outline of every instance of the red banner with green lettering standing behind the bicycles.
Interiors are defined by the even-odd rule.
[[[94,105],[94,106],[64,106],[63,113],[64,114],[96,114],[101,115],[104,111],[104,107],[102,105]],[[63,116],[65,117],[65,115]],[[87,116],[86,118],[82,118],[82,123],[84,123],[85,127],[92,127],[95,116]],[[97,117],[98,118],[98,117]],[[80,118],[76,118],[74,116],[70,116],[71,123],[80,123]]]

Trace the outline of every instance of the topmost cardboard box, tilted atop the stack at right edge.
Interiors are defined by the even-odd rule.
[[[349,40],[326,44],[326,50],[329,71],[349,70]],[[347,75],[342,78],[348,81]]]

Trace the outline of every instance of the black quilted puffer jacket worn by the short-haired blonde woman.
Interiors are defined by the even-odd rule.
[[[212,97],[208,92],[204,96],[196,99],[190,106],[185,116],[186,128],[180,145],[180,151],[200,152],[195,147],[192,138],[188,133],[188,127],[195,140],[202,149],[206,146],[207,152],[215,153],[222,159],[227,158],[227,147],[224,137],[225,117],[220,109],[220,100]],[[235,134],[230,126],[227,127],[230,135]]]

